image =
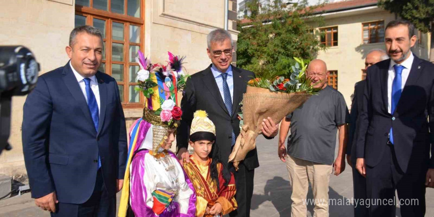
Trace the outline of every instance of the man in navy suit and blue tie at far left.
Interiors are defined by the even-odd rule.
[[[64,67],[41,75],[24,104],[23,151],[35,203],[52,217],[114,217],[127,156],[114,78],[98,72],[101,32],[72,30]]]

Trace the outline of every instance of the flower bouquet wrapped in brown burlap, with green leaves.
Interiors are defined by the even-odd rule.
[[[277,124],[318,92],[311,85],[311,79],[305,75],[307,64],[304,60],[294,59],[296,64],[285,76],[262,76],[248,82],[243,95],[243,113],[240,115],[244,125],[229,155],[229,162],[233,162],[236,170],[240,161],[256,147],[256,137],[262,133],[263,119],[271,117]]]

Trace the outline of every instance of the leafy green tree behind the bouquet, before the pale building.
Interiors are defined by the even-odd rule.
[[[307,0],[289,5],[276,0],[266,9],[252,0],[246,6],[250,16],[238,21],[238,66],[260,76],[277,76],[289,73],[295,64],[293,57],[316,57],[318,34],[307,22],[321,22],[322,18],[312,16],[314,7],[309,7]]]

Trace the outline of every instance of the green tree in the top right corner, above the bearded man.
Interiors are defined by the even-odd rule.
[[[378,5],[412,22],[424,33],[434,33],[434,0],[379,0]],[[434,62],[434,36],[431,35],[430,61]]]

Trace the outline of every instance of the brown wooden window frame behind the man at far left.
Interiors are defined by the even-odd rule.
[[[85,16],[86,17],[86,25],[93,26],[93,19],[101,19],[106,21],[106,33],[103,41],[105,42],[105,60],[102,63],[105,64],[105,73],[112,75],[112,64],[122,64],[123,65],[123,80],[116,81],[118,87],[122,85],[123,98],[122,107],[124,109],[138,109],[143,108],[145,105],[145,99],[143,94],[139,92],[139,102],[130,103],[130,87],[136,86],[138,82],[130,82],[130,66],[139,66],[138,63],[130,62],[130,46],[139,46],[139,49],[144,52],[145,48],[145,2],[144,0],[139,0],[140,3],[140,18],[128,16],[128,0],[124,0],[124,14],[119,14],[116,12],[111,12],[111,0],[108,0],[108,7],[106,10],[92,8],[93,0],[89,0],[89,7],[83,5],[75,5],[75,15]],[[124,27],[124,40],[114,40],[112,39],[112,24],[113,22],[122,23]],[[140,40],[139,43],[130,42],[130,26],[138,26],[140,31]],[[121,43],[123,44],[123,62],[120,61],[112,61],[112,43]]]

